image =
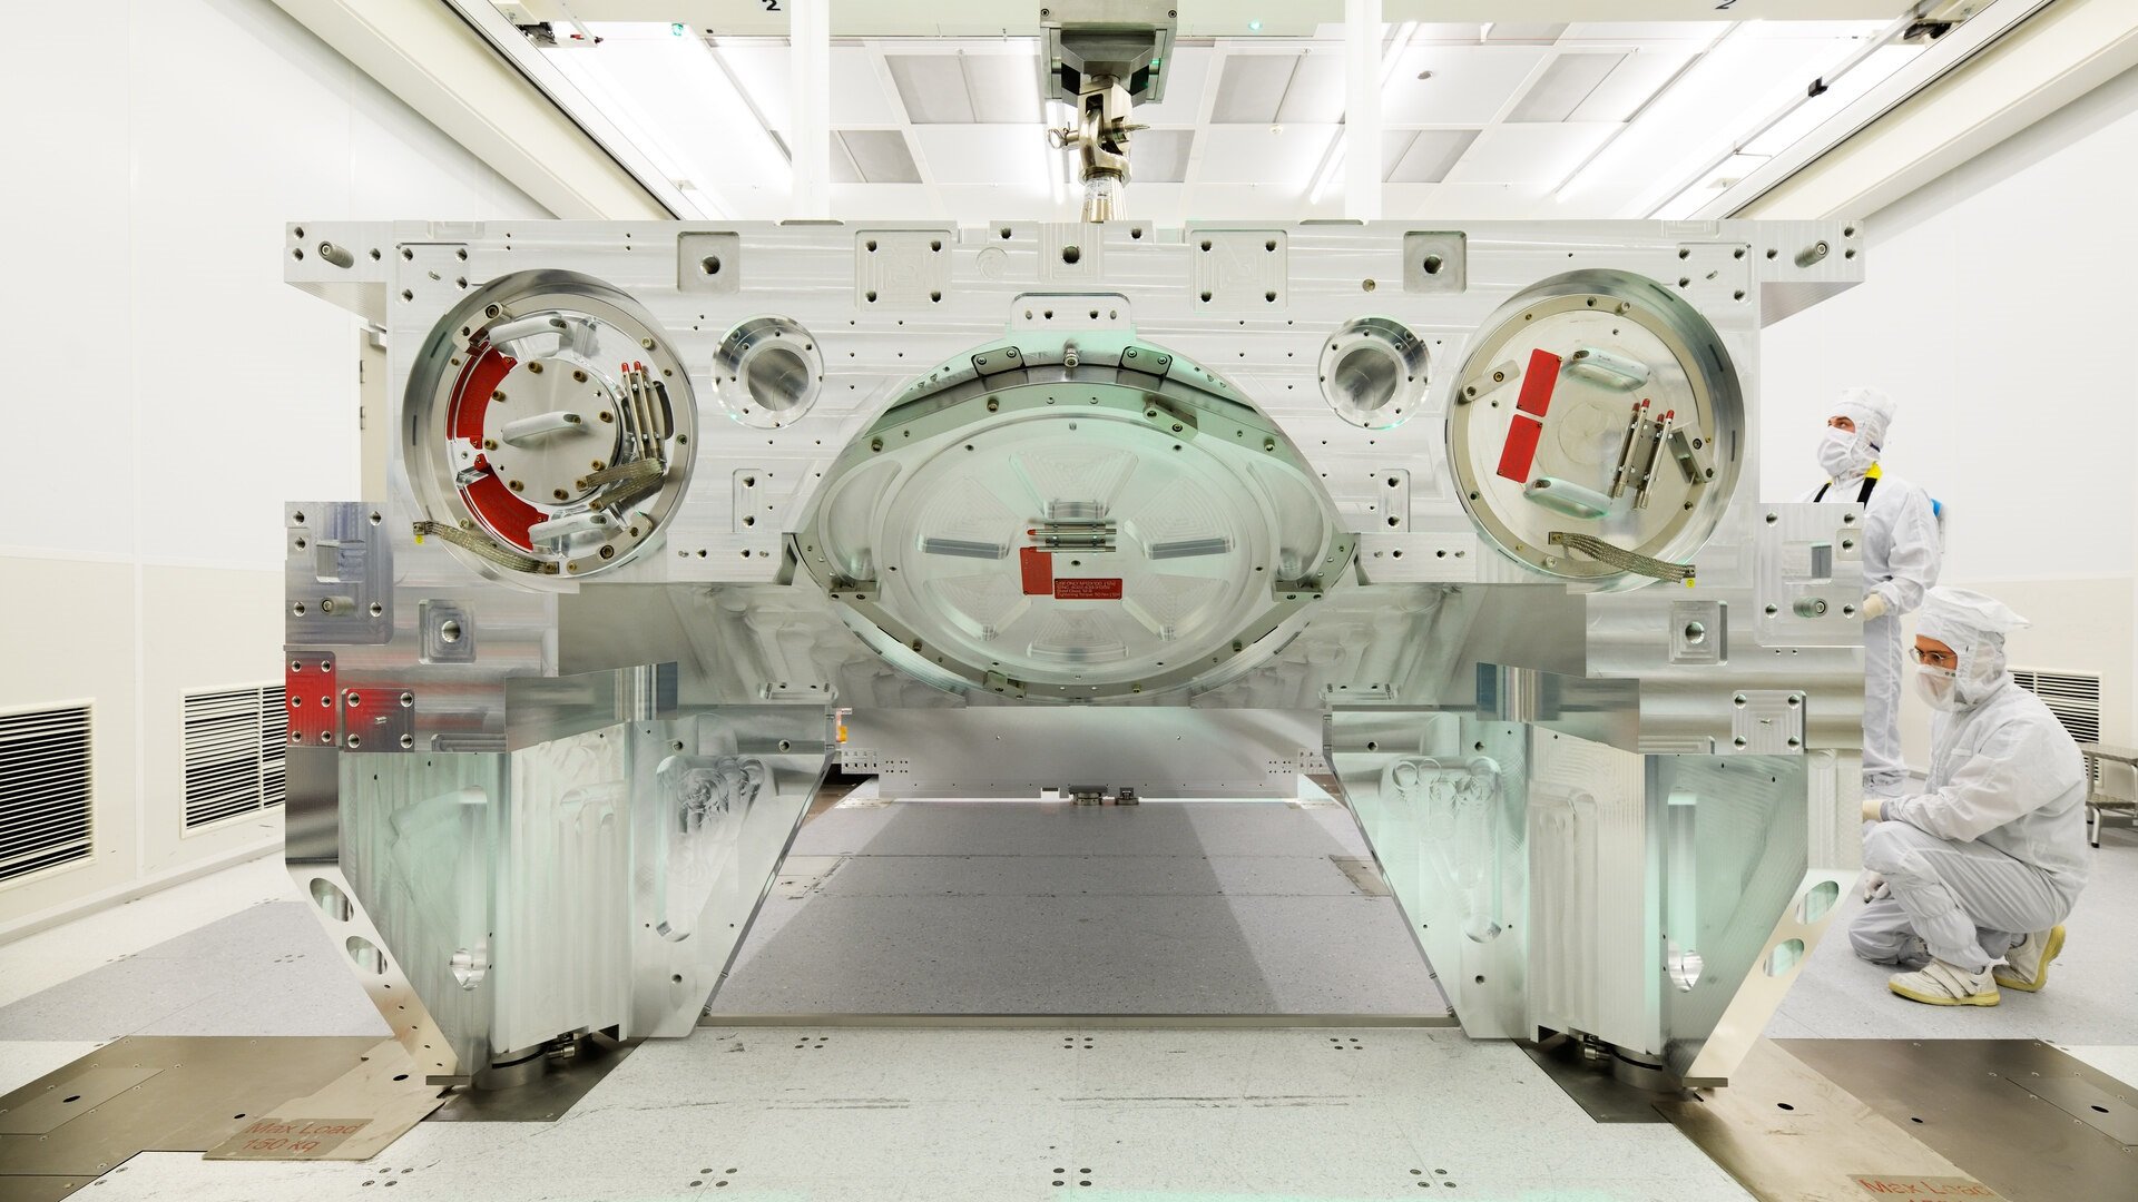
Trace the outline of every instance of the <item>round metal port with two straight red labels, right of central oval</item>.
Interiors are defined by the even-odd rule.
[[[1567,580],[1691,575],[1736,488],[1745,402],[1683,297],[1627,272],[1537,282],[1450,387],[1450,468],[1492,545]]]

